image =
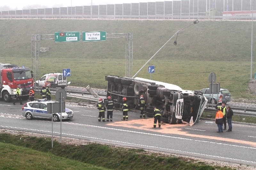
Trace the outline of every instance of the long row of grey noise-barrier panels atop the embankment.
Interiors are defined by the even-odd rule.
[[[176,0],[0,11],[0,18],[190,18],[222,16],[225,11],[256,9],[253,0]],[[90,16],[89,16],[90,15]],[[22,17],[23,16],[23,17]],[[181,17],[182,16],[182,17]],[[200,17],[198,17],[200,16]],[[194,18],[192,18],[194,19]]]

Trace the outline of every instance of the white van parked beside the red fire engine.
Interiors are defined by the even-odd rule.
[[[49,73],[45,74],[42,78],[36,81],[36,87],[43,87],[43,85],[49,85],[52,88],[61,87],[64,89],[67,85],[70,85],[71,82],[68,82],[66,77],[62,73]]]

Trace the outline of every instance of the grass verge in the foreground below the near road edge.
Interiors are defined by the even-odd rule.
[[[0,134],[0,169],[232,169],[205,165],[141,149],[127,149],[102,144],[67,145],[51,138]]]

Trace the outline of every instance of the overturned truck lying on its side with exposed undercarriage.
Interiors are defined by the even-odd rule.
[[[108,81],[107,96],[116,101],[115,107],[122,107],[122,99],[126,97],[130,109],[139,104],[140,95],[146,100],[146,115],[153,117],[154,107],[161,111],[161,121],[169,124],[199,122],[207,99],[200,91],[182,90],[177,85],[153,81],[144,78],[126,78],[106,76]]]

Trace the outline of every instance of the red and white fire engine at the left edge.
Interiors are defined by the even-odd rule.
[[[33,71],[15,64],[0,63],[0,97],[11,102],[16,97],[17,86],[20,85],[21,99],[28,100],[29,90],[33,86]]]

